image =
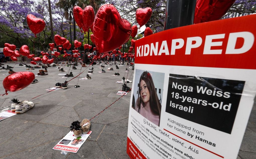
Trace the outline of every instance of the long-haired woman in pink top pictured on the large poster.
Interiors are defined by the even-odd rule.
[[[138,98],[134,109],[147,120],[159,126],[161,103],[159,102],[153,79],[144,71],[139,80]]]

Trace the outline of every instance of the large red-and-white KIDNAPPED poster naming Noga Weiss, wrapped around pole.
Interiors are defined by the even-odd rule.
[[[255,20],[188,25],[136,41],[130,158],[237,158],[256,93]]]

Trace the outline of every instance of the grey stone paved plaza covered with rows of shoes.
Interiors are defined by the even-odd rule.
[[[14,66],[14,62],[7,63]],[[16,63],[13,70],[26,71],[26,67]],[[119,63],[117,63],[119,64]],[[4,65],[6,67],[6,63]],[[30,84],[27,88],[8,92],[8,95],[0,96],[0,109],[9,106],[12,98],[19,100],[29,100],[38,95],[35,99],[29,100],[36,104],[33,109],[24,114],[16,114],[13,117],[0,121],[0,158],[90,158],[90,159],[128,159],[126,154],[127,126],[129,116],[129,104],[131,93],[123,96],[112,106],[103,111],[100,115],[91,120],[92,134],[82,145],[78,153],[68,153],[63,155],[58,150],[52,148],[63,136],[69,132],[69,126],[73,121],[91,119],[104,108],[111,105],[120,95],[116,95],[122,90],[122,84],[115,83],[125,78],[133,81],[133,70],[125,73],[126,66],[115,69],[114,66],[106,66],[106,73],[101,71],[100,65],[94,65],[92,79],[78,80],[78,77],[68,82],[68,89],[59,89],[46,93],[46,89],[55,87],[57,82],[63,83],[66,79],[61,79],[68,73],[70,67],[64,67],[65,73],[58,72],[57,67],[49,67],[48,75],[37,76],[35,84]],[[135,65],[136,66],[136,65]],[[74,76],[80,72],[81,65],[76,66],[72,71]],[[114,70],[107,70],[113,67]],[[136,67],[135,67],[136,68]],[[82,67],[81,71],[87,69],[80,75],[84,78],[88,72],[88,67]],[[32,70],[35,75],[39,69]],[[31,70],[28,70],[31,71]],[[120,76],[112,76],[119,71]],[[0,70],[0,80],[8,74],[8,70]],[[70,80],[73,77],[68,77]],[[79,78],[79,79],[80,79]],[[74,85],[80,88],[74,88]],[[127,84],[132,87],[132,83]],[[3,86],[0,86],[0,93],[4,94]],[[1,111],[0,110],[0,111]],[[234,139],[235,140],[235,139]],[[256,158],[256,106],[254,104],[251,116],[244,134],[238,159]]]

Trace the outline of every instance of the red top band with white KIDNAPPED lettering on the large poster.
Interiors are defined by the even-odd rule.
[[[188,25],[144,37],[135,43],[135,63],[256,69],[255,17]]]

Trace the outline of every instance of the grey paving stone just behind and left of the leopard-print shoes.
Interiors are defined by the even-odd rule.
[[[62,107],[39,122],[69,127],[73,121],[77,120],[81,121],[72,107]]]

